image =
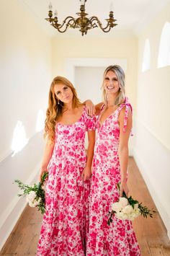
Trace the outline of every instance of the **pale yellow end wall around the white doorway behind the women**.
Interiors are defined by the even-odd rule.
[[[104,64],[97,66],[107,67],[116,64],[110,61],[126,60],[126,92],[130,102],[136,110],[136,84],[138,71],[138,40],[135,36],[114,38],[89,37],[55,37],[52,41],[53,49],[53,76],[67,76],[70,79],[68,67],[74,63],[78,66],[95,66],[94,62],[101,59]],[[105,61],[109,59],[110,61]],[[72,61],[73,60],[73,61]],[[82,60],[82,61],[81,61]],[[89,61],[89,63],[88,63]],[[68,63],[68,64],[67,64]],[[82,64],[83,63],[83,64]],[[86,63],[86,65],[84,65]],[[109,64],[108,64],[109,63]],[[71,68],[70,68],[71,69]],[[89,94],[90,97],[90,94]]]

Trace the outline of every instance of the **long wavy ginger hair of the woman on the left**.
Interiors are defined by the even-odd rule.
[[[71,84],[71,81],[63,76],[56,76],[50,85],[44,133],[44,138],[47,137],[48,140],[52,142],[55,140],[55,125],[58,121],[58,118],[63,115],[63,109],[65,107],[64,103],[61,102],[61,100],[58,100],[55,95],[55,84],[63,84],[71,89],[71,92],[73,93],[73,107],[79,107],[79,105],[81,105],[81,102],[77,97],[76,89],[73,87],[73,84]]]

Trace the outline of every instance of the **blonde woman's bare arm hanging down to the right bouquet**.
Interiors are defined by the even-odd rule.
[[[126,131],[123,132],[125,119],[125,108],[122,108],[119,115],[119,123],[120,123],[120,144],[118,148],[119,160],[120,160],[120,174],[121,174],[121,182],[120,182],[120,197],[122,196],[122,192],[125,191],[125,194],[128,195],[129,189],[127,185],[127,169],[128,169],[128,140],[130,136],[130,130],[132,128],[132,112],[129,110],[128,112],[128,122]]]

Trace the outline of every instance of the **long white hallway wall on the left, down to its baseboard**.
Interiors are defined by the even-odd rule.
[[[11,22],[6,20],[10,17]],[[0,248],[24,208],[14,179],[33,182],[42,158],[37,113],[47,107],[51,80],[51,40],[19,1],[2,0],[0,8]],[[12,157],[12,136],[21,120],[27,146]]]

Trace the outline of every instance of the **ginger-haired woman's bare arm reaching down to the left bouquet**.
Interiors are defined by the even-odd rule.
[[[53,149],[54,149],[54,142],[47,141],[46,146],[45,146],[45,152],[44,152],[44,155],[43,155],[43,158],[42,158],[39,180],[41,180],[42,174],[44,172],[48,172],[47,167],[48,167],[48,164],[50,162],[50,158],[53,154]]]

